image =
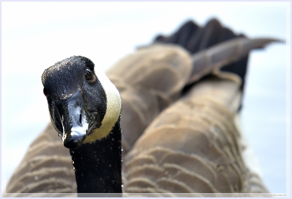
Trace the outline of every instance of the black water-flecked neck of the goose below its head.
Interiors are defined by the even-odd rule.
[[[122,193],[119,120],[106,138],[70,149],[78,193]]]

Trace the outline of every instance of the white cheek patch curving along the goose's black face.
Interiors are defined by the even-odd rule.
[[[106,137],[116,124],[121,114],[122,100],[116,86],[107,78],[104,72],[99,69],[95,70],[95,74],[105,90],[107,98],[107,110],[102,120],[101,126],[95,128],[93,133],[88,135],[84,143],[94,142]]]

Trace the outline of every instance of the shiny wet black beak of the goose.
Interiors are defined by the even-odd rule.
[[[80,147],[88,134],[91,115],[86,111],[81,90],[77,90],[69,99],[56,99],[55,104],[63,126],[63,145],[69,149]]]

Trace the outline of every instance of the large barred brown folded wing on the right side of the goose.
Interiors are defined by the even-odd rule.
[[[126,193],[267,193],[241,156],[236,79],[200,82],[150,124],[125,157]]]

